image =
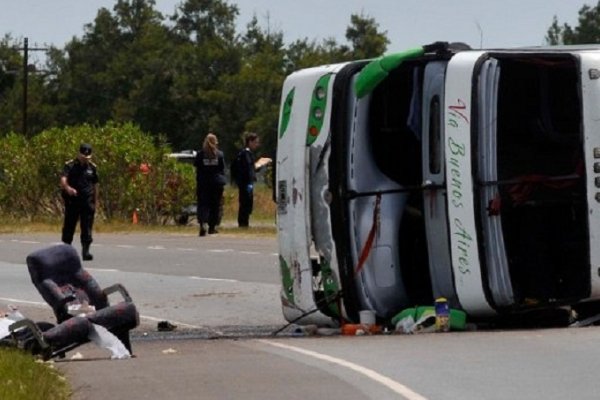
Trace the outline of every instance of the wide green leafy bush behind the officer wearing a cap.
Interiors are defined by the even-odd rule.
[[[0,138],[0,213],[33,220],[60,217],[59,177],[64,163],[90,143],[100,176],[97,218],[160,223],[194,201],[194,170],[167,158],[163,138],[144,134],[132,124],[53,128],[27,140]]]

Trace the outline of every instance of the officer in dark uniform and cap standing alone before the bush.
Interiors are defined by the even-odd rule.
[[[60,176],[60,188],[65,203],[65,218],[62,229],[62,241],[73,242],[77,220],[81,228],[81,255],[89,261],[94,257],[90,254],[92,244],[92,227],[96,204],[98,204],[98,171],[91,161],[92,146],[82,143],[79,154],[65,163]]]

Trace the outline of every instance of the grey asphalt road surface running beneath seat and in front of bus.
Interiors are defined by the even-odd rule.
[[[12,303],[36,319],[48,315],[24,259],[54,241],[0,235],[0,308]],[[135,358],[110,360],[88,344],[56,363],[76,400],[597,399],[600,393],[597,327],[272,337],[284,323],[273,238],[97,235],[96,242],[96,258],[85,266],[102,285],[125,284],[143,318],[133,335]],[[156,332],[160,319],[178,328]]]

